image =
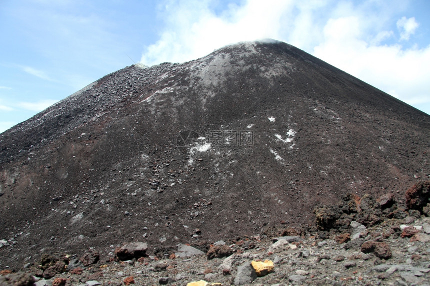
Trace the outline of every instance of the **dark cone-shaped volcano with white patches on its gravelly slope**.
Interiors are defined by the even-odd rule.
[[[344,194],[404,202],[429,138],[429,115],[283,42],[128,66],[0,134],[0,269],[270,237]]]

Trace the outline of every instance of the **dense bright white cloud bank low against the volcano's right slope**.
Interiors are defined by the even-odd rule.
[[[430,46],[374,44],[378,40],[366,42],[357,30],[357,18],[329,19],[313,54],[408,104],[429,103]]]

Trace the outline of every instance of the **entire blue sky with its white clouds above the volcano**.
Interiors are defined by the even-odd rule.
[[[430,114],[428,0],[0,0],[0,132],[139,62],[285,41]]]

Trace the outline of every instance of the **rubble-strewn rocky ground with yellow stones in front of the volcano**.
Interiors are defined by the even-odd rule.
[[[406,192],[406,206],[391,194],[346,195],[317,207],[315,226],[198,247],[197,238],[170,253],[132,242],[104,256],[43,254],[2,270],[0,285],[430,285],[429,198],[430,181]]]

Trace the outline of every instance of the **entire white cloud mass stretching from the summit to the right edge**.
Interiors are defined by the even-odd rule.
[[[401,0],[244,0],[218,13],[210,10],[209,0],[166,3],[160,15],[165,27],[159,40],[143,52],[142,63],[183,62],[229,43],[269,37],[293,44],[409,104],[430,106],[430,46],[402,45],[419,24],[414,17],[393,22],[406,5]]]

